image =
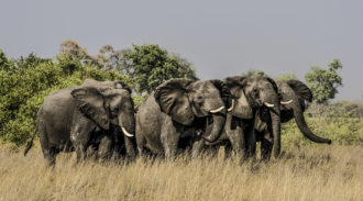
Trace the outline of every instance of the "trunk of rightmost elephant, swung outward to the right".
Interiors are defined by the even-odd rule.
[[[294,109],[294,116],[295,116],[295,121],[297,126],[299,127],[299,130],[301,131],[301,133],[309,138],[310,141],[315,142],[315,143],[326,143],[326,144],[331,144],[331,139],[329,138],[323,138],[323,137],[319,137],[317,135],[315,135],[310,129],[308,127],[301,108],[299,105],[295,105]]]

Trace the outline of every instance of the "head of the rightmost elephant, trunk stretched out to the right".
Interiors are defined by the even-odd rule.
[[[330,144],[331,139],[315,135],[304,119],[305,101],[312,101],[310,89],[299,80],[277,81],[277,87],[282,96],[282,122],[288,122],[295,118],[297,126],[307,138],[316,143]]]

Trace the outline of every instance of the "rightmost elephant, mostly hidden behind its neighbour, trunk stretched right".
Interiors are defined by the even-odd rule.
[[[308,127],[305,119],[305,101],[311,102],[312,93],[310,89],[298,80],[284,80],[276,81],[278,92],[282,97],[280,104],[280,119],[282,123],[288,122],[292,119],[295,119],[297,126],[301,131],[301,133],[312,142],[316,143],[326,143],[330,144],[331,141],[328,138],[322,138],[315,135],[311,130]],[[260,111],[260,115],[256,115],[256,137],[257,141],[261,141],[261,157],[262,159],[270,159],[271,152],[273,149],[272,144],[272,126],[271,119],[264,118],[265,111]]]

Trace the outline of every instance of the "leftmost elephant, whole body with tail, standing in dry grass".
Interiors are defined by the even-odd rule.
[[[90,146],[100,158],[123,146],[129,156],[135,155],[134,137],[123,136],[123,131],[134,134],[135,121],[130,89],[121,81],[87,79],[81,86],[58,90],[44,100],[36,121],[43,155],[51,165],[62,150],[76,150],[77,160],[82,159]]]

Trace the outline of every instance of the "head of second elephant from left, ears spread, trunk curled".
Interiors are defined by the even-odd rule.
[[[226,122],[223,98],[228,96],[229,90],[222,81],[184,78],[164,82],[154,93],[161,110],[177,123],[195,126],[200,120],[207,124],[212,122],[212,126],[208,126],[211,131],[201,135],[207,142],[215,142],[221,134]]]

